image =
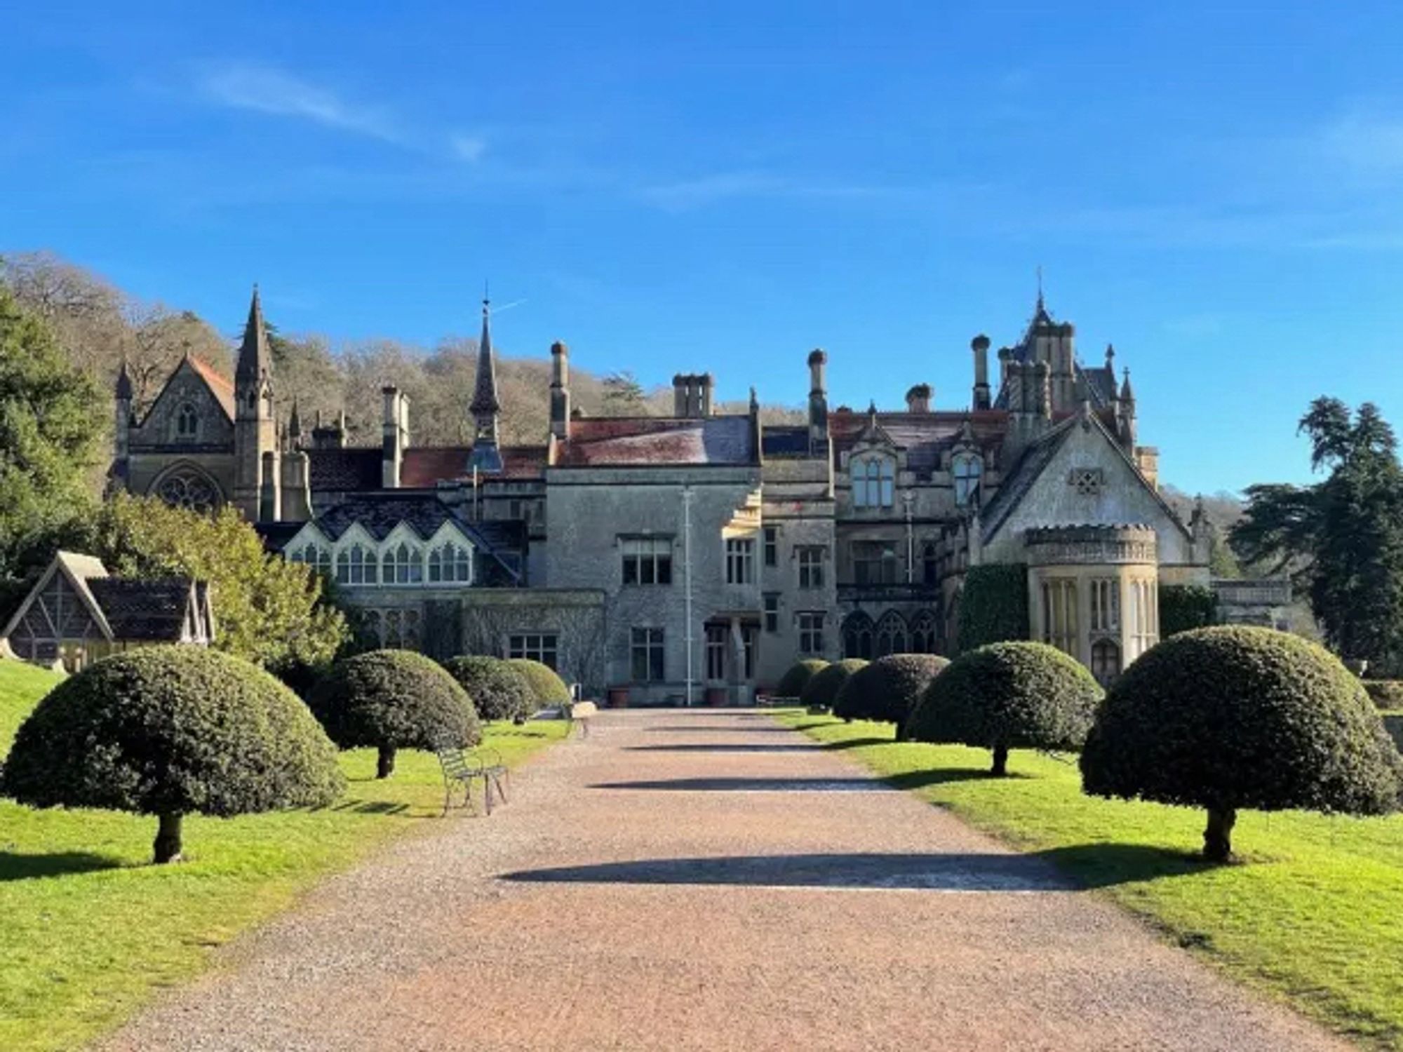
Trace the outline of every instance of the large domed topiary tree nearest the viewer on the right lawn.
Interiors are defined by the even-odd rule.
[[[1208,811],[1204,856],[1232,854],[1239,808],[1378,815],[1403,757],[1364,686],[1324,648],[1246,626],[1164,640],[1114,683],[1082,788]]]

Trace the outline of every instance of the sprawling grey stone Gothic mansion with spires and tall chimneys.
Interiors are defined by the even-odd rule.
[[[274,414],[257,292],[233,382],[187,358],[137,419],[116,386],[112,483],[231,504],[317,567],[384,645],[537,658],[615,701],[751,700],[798,656],[948,652],[965,569],[1030,568],[1031,631],[1113,677],[1157,638],[1157,584],[1208,584],[1208,529],[1157,492],[1128,370],[1085,363],[1041,296],[1017,342],[971,344],[962,408],[831,408],[808,355],[807,422],[713,410],[673,377],[669,417],[571,410],[554,344],[550,424],[498,440],[487,304],[467,446],[417,446],[383,391],[383,440]]]

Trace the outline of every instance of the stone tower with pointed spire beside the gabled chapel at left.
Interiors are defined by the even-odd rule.
[[[272,522],[281,513],[279,498],[272,351],[255,285],[234,369],[234,506],[250,522]]]

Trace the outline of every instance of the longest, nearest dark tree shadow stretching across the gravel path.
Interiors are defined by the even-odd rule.
[[[502,874],[530,884],[730,884],[770,888],[1073,891],[1027,854],[755,854],[648,858]]]

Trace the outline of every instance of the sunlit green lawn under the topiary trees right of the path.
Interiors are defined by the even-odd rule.
[[[991,778],[988,752],[898,745],[890,724],[779,718],[1047,857],[1236,979],[1362,1045],[1403,1048],[1403,815],[1244,812],[1242,864],[1214,867],[1194,857],[1201,811],[1083,797],[1075,763],[1014,752],[1014,777]]]

